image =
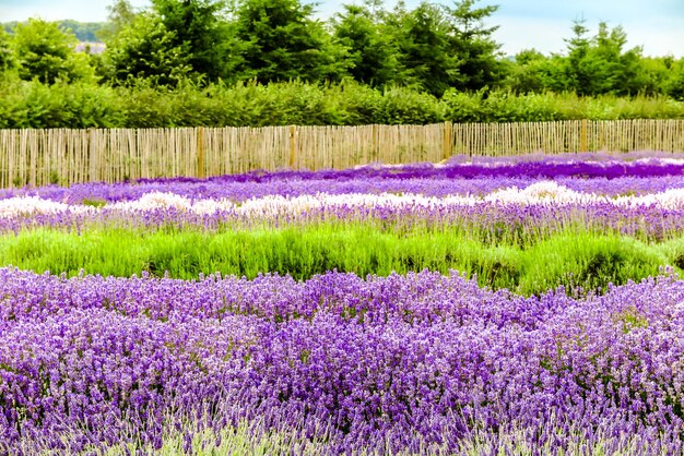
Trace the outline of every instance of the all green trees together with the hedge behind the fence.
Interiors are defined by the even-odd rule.
[[[143,9],[115,0],[98,32],[106,41],[102,56],[75,48],[72,32],[91,33],[94,25],[3,24],[9,33],[0,28],[0,91],[8,107],[0,111],[11,118],[28,109],[27,118],[5,124],[51,125],[60,107],[75,112],[73,100],[86,99],[73,91],[109,103],[116,98],[110,88],[134,94],[125,104],[130,125],[244,124],[257,118],[266,122],[258,124],[554,120],[567,116],[547,101],[551,93],[654,96],[663,112],[671,112],[672,99],[684,99],[684,59],[642,56],[641,48],[627,47],[621,26],[600,23],[591,31],[578,21],[561,52],[526,49],[506,58],[491,25],[496,7],[477,1],[425,0],[409,8],[400,0],[388,10],[381,0],[364,0],[343,4],[325,22],[306,0],[152,0]],[[264,87],[275,88],[266,96]],[[51,103],[50,91],[63,98]],[[240,115],[238,101],[249,105],[249,116]],[[98,124],[92,120],[97,113],[84,116],[70,119]]]

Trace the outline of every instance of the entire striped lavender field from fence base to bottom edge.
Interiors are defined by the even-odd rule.
[[[683,173],[0,191],[0,453],[681,454]]]

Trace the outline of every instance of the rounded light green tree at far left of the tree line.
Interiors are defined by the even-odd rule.
[[[13,44],[20,77],[45,84],[94,80],[87,56],[75,51],[76,43],[75,36],[60,31],[56,22],[30,19],[19,24]]]

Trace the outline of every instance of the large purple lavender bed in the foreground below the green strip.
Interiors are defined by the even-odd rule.
[[[216,428],[268,417],[325,431],[331,452],[456,451],[475,428],[511,423],[682,449],[684,283],[668,276],[574,300],[428,272],[190,283],[0,269],[0,296],[10,449],[76,431],[161,445],[162,419],[193,411]]]

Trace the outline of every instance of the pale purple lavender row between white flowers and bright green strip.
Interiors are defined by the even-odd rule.
[[[312,224],[361,224],[391,230],[461,230],[496,240],[544,237],[564,230],[594,230],[663,240],[684,231],[684,208],[657,205],[616,206],[591,204],[495,204],[476,203],[444,207],[379,205],[349,207],[322,206],[299,211],[241,213],[216,211],[209,214],[158,207],[146,211],[101,209],[94,213],[35,213],[0,217],[0,232],[19,233],[26,229],[49,228],[81,232],[89,229],[222,231],[253,228],[281,228]]]

